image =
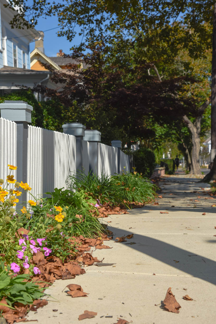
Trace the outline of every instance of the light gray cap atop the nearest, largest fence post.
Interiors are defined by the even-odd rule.
[[[31,122],[33,107],[22,100],[5,100],[0,104],[1,117],[10,121]]]

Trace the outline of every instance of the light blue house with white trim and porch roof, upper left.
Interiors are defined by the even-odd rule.
[[[30,68],[29,43],[40,39],[40,32],[34,28],[12,29],[9,22],[15,12],[4,4],[7,1],[0,0],[0,95],[39,83],[53,87],[49,71]]]

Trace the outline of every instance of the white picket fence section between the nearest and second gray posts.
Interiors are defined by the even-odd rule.
[[[33,196],[66,188],[65,180],[72,173],[76,173],[75,136],[28,126],[27,179]]]

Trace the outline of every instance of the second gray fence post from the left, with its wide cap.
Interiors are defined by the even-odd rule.
[[[63,133],[76,136],[76,170],[82,170],[82,140],[85,135],[86,126],[78,122],[67,122],[62,125]]]

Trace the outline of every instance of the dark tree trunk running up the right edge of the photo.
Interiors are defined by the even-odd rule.
[[[212,31],[212,68],[211,68],[211,150],[216,149],[216,3],[214,4],[214,18]],[[216,157],[216,155],[215,155]],[[210,172],[203,178],[203,182],[216,180],[216,158],[211,163]]]

